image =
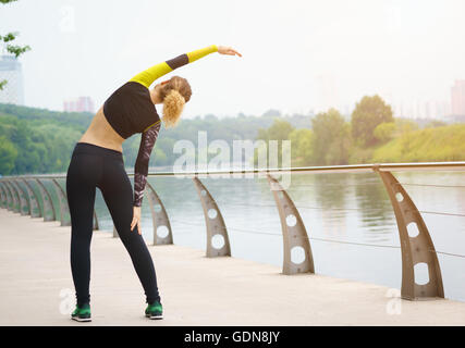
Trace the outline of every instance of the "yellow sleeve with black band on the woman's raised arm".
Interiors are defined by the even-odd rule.
[[[156,80],[157,78],[172,72],[173,70],[180,66],[192,63],[209,53],[213,53],[217,51],[218,51],[217,45],[211,45],[188,53],[180,54],[162,63],[155,64],[154,66],[135,75],[133,78],[130,79],[130,82],[131,80],[136,82],[149,88],[150,85],[154,83],[154,80]]]

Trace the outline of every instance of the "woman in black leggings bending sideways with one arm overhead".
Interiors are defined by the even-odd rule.
[[[131,256],[144,287],[145,315],[162,318],[154,262],[142,237],[140,206],[147,182],[148,162],[160,130],[160,117],[155,104],[163,104],[166,127],[174,126],[191,99],[191,86],[185,78],[173,76],[150,85],[157,78],[192,63],[209,53],[242,57],[230,47],[209,47],[181,54],[156,64],[131,78],[117,89],[95,115],[88,129],[76,142],[66,173],[66,196],[71,215],[71,271],[76,290],[76,309],[71,318],[90,321],[90,239],[96,187],[103,196],[118,234]],[[142,133],[134,167],[134,194],[124,170],[122,142]],[[137,233],[134,233],[137,227]]]

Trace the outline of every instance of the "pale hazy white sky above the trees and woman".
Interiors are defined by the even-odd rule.
[[[158,62],[211,44],[210,54],[166,75],[193,87],[185,116],[270,108],[307,112],[318,76],[338,102],[364,95],[449,100],[465,78],[463,0],[20,0],[0,7],[0,33],[21,32],[27,105],[62,110],[90,96],[97,108]]]

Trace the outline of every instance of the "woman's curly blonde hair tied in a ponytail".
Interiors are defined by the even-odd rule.
[[[163,100],[163,116],[161,120],[167,128],[174,127],[184,110],[184,105],[192,96],[191,85],[187,79],[173,76],[160,89]]]

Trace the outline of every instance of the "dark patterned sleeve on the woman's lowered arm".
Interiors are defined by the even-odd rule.
[[[157,141],[158,132],[160,130],[159,121],[148,129],[144,130],[140,138],[139,151],[137,153],[136,163],[134,166],[134,206],[140,207],[144,198],[144,190],[147,184],[148,162],[150,153]]]

